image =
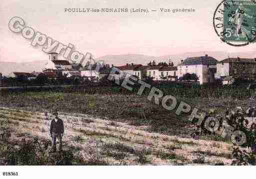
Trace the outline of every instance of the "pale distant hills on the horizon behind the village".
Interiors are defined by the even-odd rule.
[[[123,54],[123,55],[105,55],[95,60],[103,60],[107,64],[114,65],[124,65],[126,63],[137,63],[146,65],[149,61],[155,60],[157,63],[161,61],[168,62],[168,56],[171,57],[171,60],[175,65],[179,64],[181,60],[186,59],[187,57],[192,56],[204,56],[208,54],[216,58],[217,60],[223,60],[225,58],[230,57],[248,57],[255,58],[256,52],[237,52],[237,53],[227,53],[222,51],[201,51],[201,52],[187,52],[173,55],[164,55],[164,56],[148,56],[141,54]],[[24,63],[15,63],[15,62],[0,62],[0,72],[7,76],[13,71],[16,72],[40,72],[44,68],[46,60],[42,61],[33,61],[33,62],[24,62]]]

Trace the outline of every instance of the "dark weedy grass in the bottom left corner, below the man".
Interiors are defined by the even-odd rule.
[[[49,153],[44,148],[45,141],[19,141],[18,143],[2,143],[0,158],[5,165],[107,165],[104,161],[84,160],[72,151],[72,148]],[[40,144],[40,145],[38,145]],[[18,145],[18,147],[16,147]],[[48,146],[48,145],[47,145]]]

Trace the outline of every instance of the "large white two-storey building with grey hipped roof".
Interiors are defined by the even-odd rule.
[[[212,82],[216,73],[217,62],[215,58],[208,55],[186,58],[177,66],[177,76],[180,78],[186,73],[195,73],[199,78],[200,84]]]

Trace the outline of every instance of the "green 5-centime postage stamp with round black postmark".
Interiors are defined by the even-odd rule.
[[[222,41],[245,46],[256,41],[256,1],[223,0],[214,13],[214,28]]]

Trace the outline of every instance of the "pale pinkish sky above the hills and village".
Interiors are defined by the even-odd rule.
[[[221,0],[1,0],[0,61],[45,60],[41,46],[32,47],[8,28],[19,16],[35,31],[81,53],[163,56],[196,51],[255,51],[256,43],[233,47],[218,38],[213,15]],[[149,8],[145,12],[65,12],[65,8]],[[161,12],[160,8],[193,8],[195,12]]]

